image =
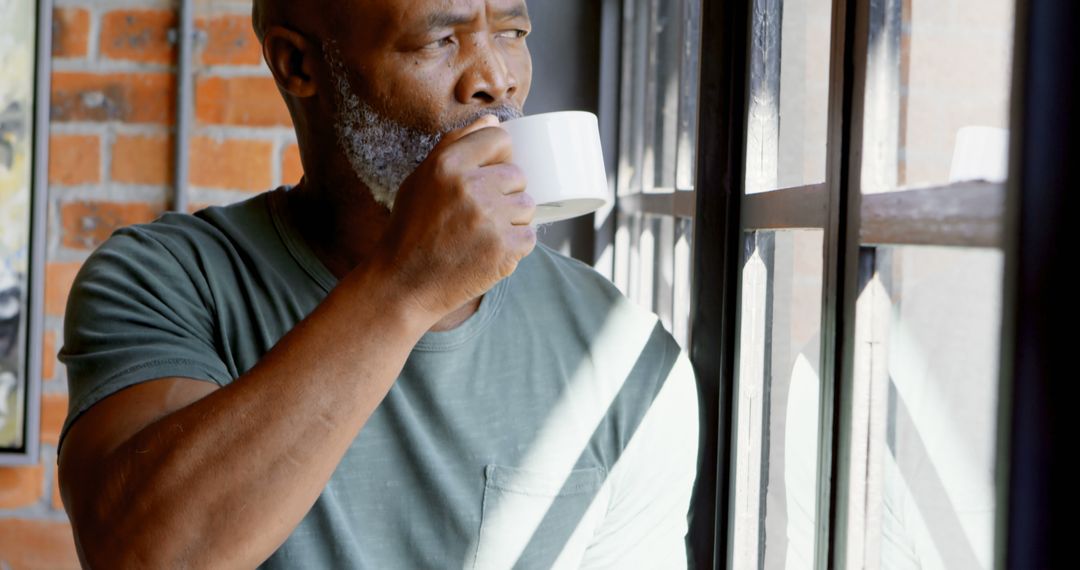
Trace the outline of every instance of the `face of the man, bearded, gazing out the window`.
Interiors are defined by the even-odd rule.
[[[337,142],[391,207],[442,135],[522,114],[531,81],[524,0],[368,0],[323,44]]]

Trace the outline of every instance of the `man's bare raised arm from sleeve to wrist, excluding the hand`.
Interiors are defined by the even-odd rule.
[[[156,381],[77,421],[59,464],[85,562],[244,568],[273,553],[423,334],[373,280],[343,282],[226,388]]]

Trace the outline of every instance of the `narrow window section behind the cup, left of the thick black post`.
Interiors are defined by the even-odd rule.
[[[615,283],[689,337],[701,9],[623,2]]]

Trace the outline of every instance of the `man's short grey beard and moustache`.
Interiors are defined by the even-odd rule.
[[[500,122],[523,114],[521,109],[508,104],[483,109],[473,117],[444,125],[440,132],[423,132],[382,116],[360,98],[349,83],[349,73],[336,42],[324,42],[323,53],[337,86],[334,130],[338,148],[349,160],[356,178],[387,209],[393,209],[402,184],[446,133],[468,126],[485,114],[494,114]]]

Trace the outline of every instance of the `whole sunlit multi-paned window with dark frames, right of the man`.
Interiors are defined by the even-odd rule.
[[[615,275],[706,401],[698,566],[1001,564],[1016,5],[622,2]]]

